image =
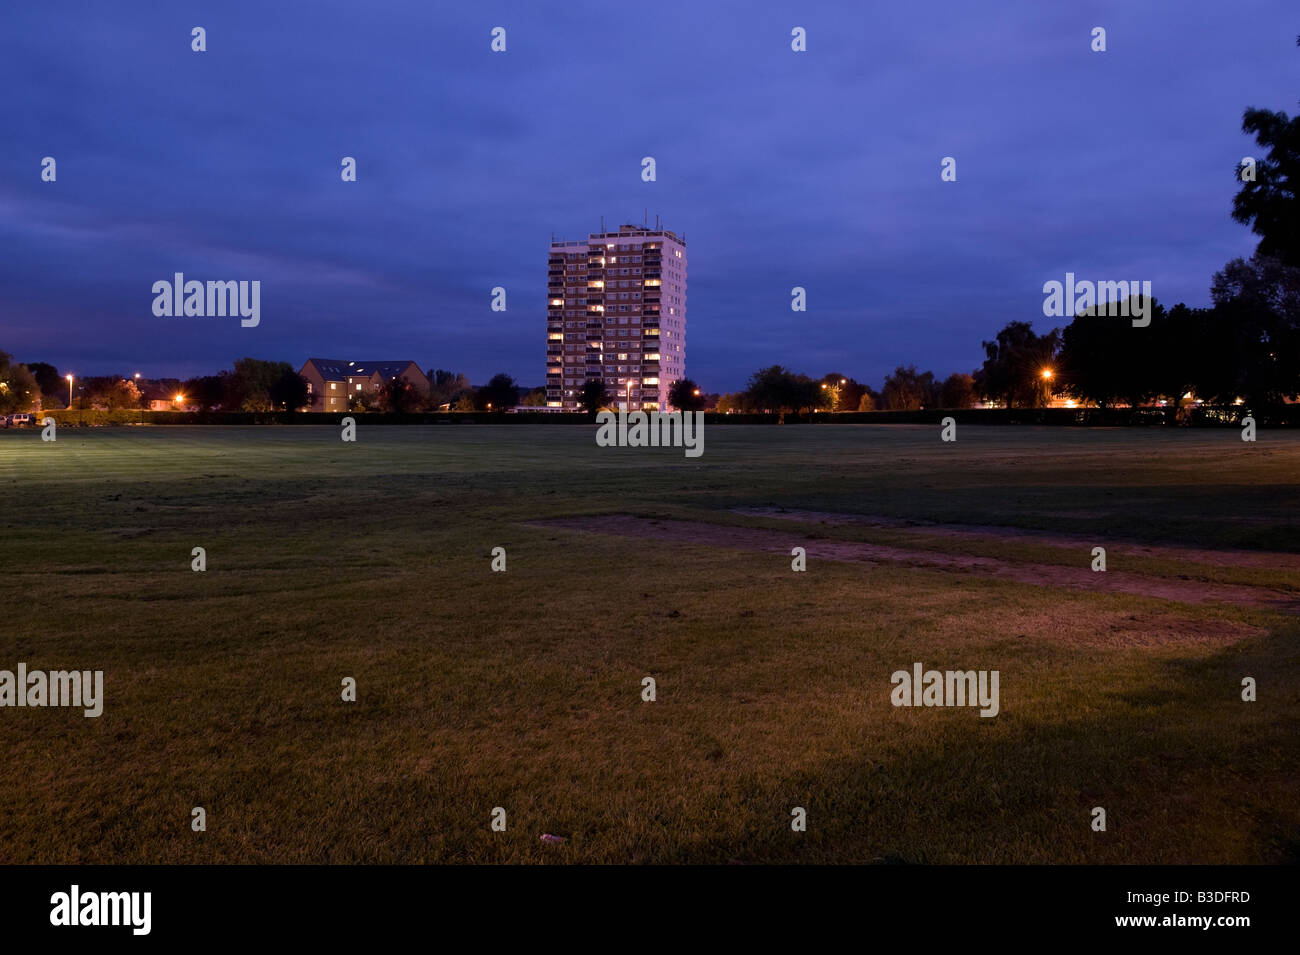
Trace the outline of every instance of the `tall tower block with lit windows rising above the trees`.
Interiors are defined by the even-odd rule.
[[[684,239],[624,225],[551,243],[546,407],[577,411],[582,385],[601,379],[615,407],[670,411],[668,390],[685,374]]]

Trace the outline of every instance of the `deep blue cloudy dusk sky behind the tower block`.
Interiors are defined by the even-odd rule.
[[[1297,32],[1292,0],[5,4],[0,350],[540,385],[551,234],[649,209],[686,236],[708,390],[970,370],[1005,322],[1049,327],[1066,270],[1208,300],[1254,246],[1228,217],[1242,112],[1296,109]],[[261,325],[155,317],[174,272],[261,281]]]

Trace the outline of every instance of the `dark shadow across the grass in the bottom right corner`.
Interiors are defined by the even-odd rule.
[[[777,782],[737,780],[729,796],[758,822],[746,838],[656,861],[1300,861],[1300,629],[1153,663],[1141,687],[1050,724],[1017,716],[1009,676],[993,720],[894,711],[949,721],[923,750],[863,754]],[[1240,699],[1244,676],[1258,681],[1260,702]],[[806,833],[790,830],[796,806],[807,809]],[[1091,828],[1098,806],[1106,832]]]

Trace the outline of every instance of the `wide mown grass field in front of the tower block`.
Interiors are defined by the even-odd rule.
[[[0,863],[1300,860],[1300,433],[0,433]]]

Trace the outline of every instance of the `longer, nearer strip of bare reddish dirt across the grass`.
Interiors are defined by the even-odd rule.
[[[866,564],[902,564],[979,574],[1040,587],[1134,594],[1188,604],[1228,603],[1240,607],[1260,607],[1286,613],[1300,613],[1300,595],[1266,587],[1145,577],[1121,570],[1093,573],[1087,567],[1020,564],[996,557],[911,550],[859,541],[831,541],[800,531],[784,533],[760,528],[733,528],[720,524],[633,517],[630,515],[601,515],[533,521],[532,526],[563,528],[593,534],[649,538],[685,544],[706,544],[708,547],[725,547],[741,551],[760,551],[781,554],[785,557],[789,557],[792,547],[798,546],[807,552],[810,561],[836,560]]]

